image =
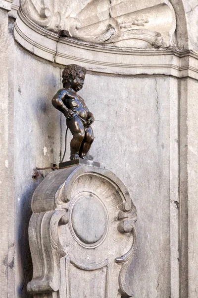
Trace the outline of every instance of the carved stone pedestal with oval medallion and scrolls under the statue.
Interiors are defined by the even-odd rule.
[[[29,243],[35,298],[125,298],[136,249],[136,208],[110,171],[76,165],[50,173],[32,197]]]

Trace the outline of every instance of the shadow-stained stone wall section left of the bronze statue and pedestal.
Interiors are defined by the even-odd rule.
[[[51,98],[60,88],[60,70],[42,63],[15,45],[15,286],[16,297],[28,297],[32,276],[28,244],[31,196],[37,186],[35,167],[59,162],[60,115]],[[43,171],[46,175],[49,171]]]

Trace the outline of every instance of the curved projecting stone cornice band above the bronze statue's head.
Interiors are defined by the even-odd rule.
[[[88,71],[100,74],[162,74],[198,79],[198,54],[192,51],[109,47],[59,38],[57,33],[28,20],[20,9],[14,36],[29,52],[59,65],[82,64]]]

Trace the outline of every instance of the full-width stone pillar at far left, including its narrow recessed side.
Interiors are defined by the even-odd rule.
[[[14,297],[14,184],[8,146],[11,113],[8,93],[8,11],[11,3],[11,0],[0,0],[0,298]]]

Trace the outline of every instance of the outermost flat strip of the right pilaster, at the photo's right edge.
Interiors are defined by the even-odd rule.
[[[198,296],[198,82],[188,79],[189,298]]]

